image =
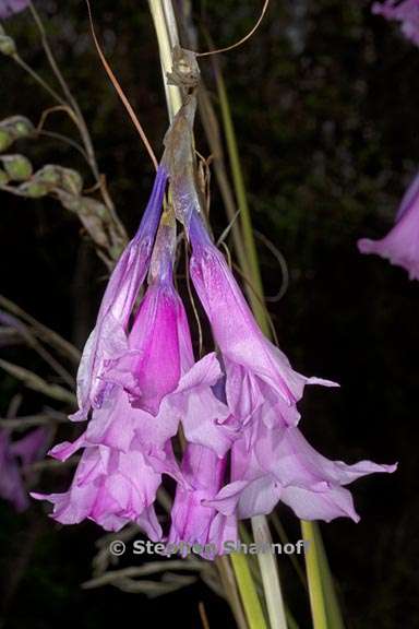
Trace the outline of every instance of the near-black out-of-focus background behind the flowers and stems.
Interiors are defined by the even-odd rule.
[[[120,216],[133,233],[152,185],[142,144],[99,64],[86,8],[68,1],[60,11],[39,1],[53,50],[82,105]],[[156,153],[167,126],[154,31],[144,2],[93,3],[100,39]],[[239,39],[260,2],[193,2],[216,46]],[[21,56],[48,74],[31,15],[4,24]],[[206,49],[204,39],[200,44]],[[373,476],[351,489],[361,522],[323,525],[348,626],[383,629],[419,626],[416,574],[419,547],[417,496],[417,352],[419,288],[404,270],[362,257],[356,240],[381,237],[419,162],[419,50],[370,12],[370,2],[272,2],[259,32],[219,59],[228,86],[254,226],[287,260],[290,284],[270,304],[282,348],[303,373],[337,380],[339,390],[308,391],[304,435],[325,455],[355,462],[399,461],[393,476]],[[211,62],[201,69],[214,91]],[[0,118],[22,114],[34,122],[51,102],[7,58],[0,58]],[[217,106],[216,97],[214,104]],[[63,116],[50,128],[70,131]],[[204,140],[201,152],[207,154]],[[34,165],[79,167],[74,152],[38,140],[19,145]],[[88,178],[86,178],[86,185]],[[76,218],[53,201],[1,193],[1,293],[40,321],[83,345],[94,323],[106,270]],[[226,226],[215,185],[212,218]],[[267,295],[282,277],[260,246]],[[36,368],[23,348],[15,360]],[[0,414],[24,392],[1,379]],[[22,414],[39,411],[26,394]],[[51,486],[67,486],[63,476]],[[45,483],[43,488],[45,488]],[[278,513],[291,539],[300,536],[286,507]],[[204,584],[148,601],[112,586],[82,591],[91,574],[92,523],[60,527],[35,505],[16,515],[0,507],[3,626],[46,629],[111,627],[130,616],[136,625],[199,627],[204,601],[210,625],[234,626],[224,602]],[[280,571],[289,606],[309,627],[307,597],[287,559]],[[149,619],[148,619],[149,618]]]

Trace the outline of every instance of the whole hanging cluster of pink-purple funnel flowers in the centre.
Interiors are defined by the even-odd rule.
[[[135,522],[154,541],[211,544],[218,553],[237,541],[238,520],[270,513],[279,500],[303,519],[357,521],[345,485],[395,466],[328,461],[304,440],[297,408],[304,387],[335,384],[296,372],[263,335],[212,242],[188,173],[176,178],[163,161],[139,232],[109,280],[77,375],[72,419],[91,418],[75,442],[51,451],[64,461],[83,450],[71,487],[34,497],[52,502],[62,523],[89,519],[118,531]],[[176,221],[169,203],[161,212],[168,181],[216,344],[199,360],[173,285]],[[165,532],[155,511],[163,475],[177,484]]]

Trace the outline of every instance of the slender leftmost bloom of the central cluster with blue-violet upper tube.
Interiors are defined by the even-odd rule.
[[[96,325],[83,351],[77,372],[79,411],[84,419],[91,407],[99,408],[109,383],[103,378],[110,360],[127,352],[127,328],[146,275],[161,213],[167,174],[160,167],[139,230],[119,259],[105,290]]]

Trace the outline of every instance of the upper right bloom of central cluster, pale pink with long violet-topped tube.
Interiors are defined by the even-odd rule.
[[[296,404],[306,384],[334,387],[335,383],[301,376],[264,336],[196,213],[191,219],[190,238],[191,277],[222,353],[230,411],[243,425],[262,407],[266,420],[297,424]]]

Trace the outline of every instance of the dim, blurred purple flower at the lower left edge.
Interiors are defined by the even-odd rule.
[[[11,441],[8,430],[0,431],[0,496],[16,511],[29,506],[23,475],[25,467],[45,455],[48,438],[45,428],[32,430],[19,441]]]

